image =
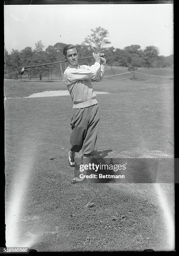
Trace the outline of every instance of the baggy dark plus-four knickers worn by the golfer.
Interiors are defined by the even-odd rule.
[[[99,105],[72,109],[71,150],[84,155],[97,155],[97,132],[100,121]]]

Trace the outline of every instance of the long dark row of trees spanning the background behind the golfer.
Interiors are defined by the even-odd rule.
[[[91,29],[91,34],[87,36],[82,44],[76,47],[81,57],[91,56],[92,52],[104,52],[109,66],[128,67],[130,71],[137,67],[170,67],[173,65],[173,55],[164,57],[159,56],[159,50],[155,46],[147,46],[144,50],[139,45],[126,46],[124,49],[107,47],[110,42],[107,37],[109,33],[106,29],[97,27]],[[31,66],[48,62],[56,62],[64,59],[62,54],[66,44],[57,43],[54,46],[45,46],[41,41],[35,44],[35,49],[26,47],[22,51],[12,50],[9,54],[5,49],[5,78],[19,78],[22,66]],[[92,64],[92,60],[85,60],[83,64]],[[63,72],[67,63],[54,64],[42,67],[27,69],[25,72],[28,77],[48,77],[53,75],[63,79]]]

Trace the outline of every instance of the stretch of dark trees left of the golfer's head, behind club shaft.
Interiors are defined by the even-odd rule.
[[[65,44],[57,43],[54,46],[45,46],[41,41],[35,43],[35,49],[25,47],[22,51],[12,49],[9,54],[5,49],[5,78],[19,78],[22,66],[32,66],[44,63],[63,60],[62,49]],[[65,63],[66,64],[66,63]],[[64,69],[64,68],[63,68]],[[60,79],[63,77],[62,65],[54,64],[41,67],[26,69],[25,74],[31,79],[32,77],[48,77],[52,79],[52,75],[56,74]],[[60,72],[59,72],[60,71]]]

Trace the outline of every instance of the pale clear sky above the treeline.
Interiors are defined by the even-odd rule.
[[[138,44],[159,48],[159,55],[173,54],[173,5],[4,5],[5,48],[47,48],[58,42],[81,44],[101,26],[108,30],[107,47],[123,49]]]

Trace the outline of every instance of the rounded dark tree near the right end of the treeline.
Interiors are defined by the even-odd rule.
[[[144,61],[146,67],[152,67],[153,61],[157,58],[159,49],[156,46],[147,46],[144,49]]]

